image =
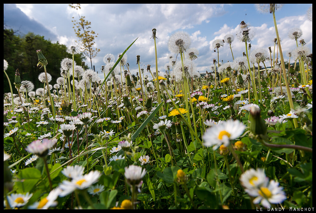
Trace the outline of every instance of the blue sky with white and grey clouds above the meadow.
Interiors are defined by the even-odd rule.
[[[312,4],[285,4],[276,11],[276,22],[281,38],[285,60],[287,53],[296,48],[295,40],[289,38],[292,28],[300,28],[307,46],[312,50],[313,27],[307,18],[307,10]],[[19,30],[19,34],[31,31],[44,35],[52,42],[66,46],[77,40],[74,33],[73,18],[78,13],[91,22],[91,30],[98,33],[95,48],[100,52],[93,58],[95,70],[104,65],[103,57],[112,53],[117,56],[137,37],[137,41],[127,51],[127,62],[132,73],[138,72],[136,55],[141,56],[143,68],[151,64],[155,70],[155,46],[152,28],[157,29],[158,70],[165,71],[169,62],[167,56],[168,39],[177,31],[189,33],[191,46],[199,51],[194,61],[199,72],[210,71],[213,59],[217,60],[212,43],[224,39],[227,34],[236,35],[241,21],[251,26],[254,32],[252,50],[274,47],[276,33],[272,15],[258,13],[254,4],[81,4],[81,9],[70,8],[68,4],[4,4],[4,26]],[[40,49],[40,47],[39,47]],[[234,58],[242,56],[245,43],[235,38],[232,43]],[[229,45],[219,49],[219,58],[223,62],[232,61]],[[48,59],[49,60],[49,59]],[[86,64],[90,65],[87,58]],[[103,74],[100,74],[101,78]]]

